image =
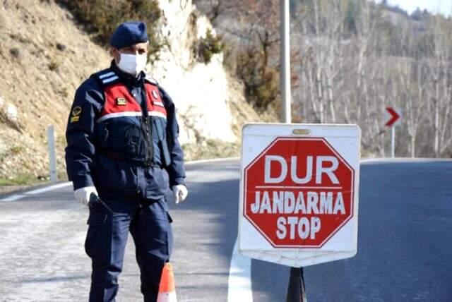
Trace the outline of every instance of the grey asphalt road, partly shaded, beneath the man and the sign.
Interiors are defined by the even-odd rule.
[[[178,300],[227,301],[239,162],[187,171],[189,198],[170,205]],[[306,267],[308,301],[452,301],[451,179],[451,161],[362,164],[357,256]],[[0,301],[87,301],[87,217],[70,186],[0,201]],[[133,250],[130,238],[118,301],[141,299]],[[285,301],[288,275],[252,260],[254,301]]]

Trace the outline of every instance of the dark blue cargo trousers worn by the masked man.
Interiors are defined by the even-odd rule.
[[[172,252],[172,219],[166,200],[100,195],[90,206],[85,251],[92,260],[90,301],[114,301],[129,232],[136,246],[144,301],[157,301],[162,268]]]

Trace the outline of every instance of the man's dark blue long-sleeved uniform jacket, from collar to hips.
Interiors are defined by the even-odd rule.
[[[146,93],[145,85],[150,84],[157,93]],[[110,87],[123,89],[126,97],[112,100],[106,92]],[[156,110],[165,108],[161,111],[166,111],[166,116],[148,110],[150,99]],[[108,115],[111,102],[135,111]],[[143,123],[147,118],[148,124]],[[112,64],[76,91],[66,128],[66,169],[73,189],[95,186],[100,193],[162,198],[169,186],[184,184],[178,135],[176,110],[167,92],[144,73],[135,78]]]

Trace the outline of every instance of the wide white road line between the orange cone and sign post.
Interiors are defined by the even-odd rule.
[[[239,254],[238,238],[232,251],[229,279],[227,282],[228,302],[252,302],[251,291],[251,258]]]

